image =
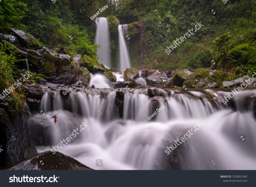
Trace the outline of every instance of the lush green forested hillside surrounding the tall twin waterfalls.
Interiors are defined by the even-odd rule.
[[[252,0],[230,0],[227,3],[206,0],[120,0],[118,4],[104,0],[59,0],[56,3],[22,1],[27,4],[26,7],[16,0],[8,4],[5,0],[1,2],[2,12],[5,8],[10,9],[8,6],[20,9],[16,15],[1,16],[1,24],[8,23],[1,31],[8,32],[8,27],[22,28],[44,46],[56,50],[63,48],[69,55],[87,54],[96,59],[95,22],[90,17],[99,8],[108,5],[109,8],[100,17],[116,16],[120,24],[140,23],[139,35],[134,35],[132,27],[129,30],[133,67],[197,69],[211,67],[215,63],[215,68],[232,70],[237,76],[256,70],[256,2]],[[12,25],[8,22],[10,17],[15,17]],[[20,24],[18,20],[22,17]],[[197,23],[201,23],[202,28],[167,54],[166,47]],[[116,34],[113,32],[112,63],[116,65],[118,36],[117,30]],[[217,38],[219,36],[222,37]]]

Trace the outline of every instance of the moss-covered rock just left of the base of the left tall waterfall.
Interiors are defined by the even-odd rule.
[[[80,66],[86,67],[91,73],[104,73],[107,70],[97,59],[93,59],[87,55],[83,56],[83,62]]]

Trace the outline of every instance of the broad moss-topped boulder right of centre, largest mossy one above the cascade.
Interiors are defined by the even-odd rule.
[[[219,88],[228,80],[224,71],[200,68],[191,73],[182,86],[187,88]]]

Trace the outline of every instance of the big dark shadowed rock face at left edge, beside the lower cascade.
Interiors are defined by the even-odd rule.
[[[5,98],[0,101],[0,166],[15,163],[37,154],[30,140],[27,114]]]

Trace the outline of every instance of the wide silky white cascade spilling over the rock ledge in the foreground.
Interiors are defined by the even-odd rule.
[[[89,127],[59,152],[95,170],[255,170],[256,89],[234,97],[235,111],[221,103],[227,93],[78,89],[65,98],[61,89],[46,89],[41,110],[46,116],[59,113],[57,124],[31,117],[29,130],[38,152],[44,152],[86,122]],[[120,99],[123,104],[118,104]],[[161,106],[164,109],[153,115]],[[203,126],[167,155],[166,147],[198,123]],[[239,135],[246,135],[246,142],[239,141]],[[103,166],[96,166],[96,159],[103,159]]]

